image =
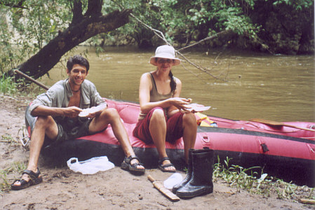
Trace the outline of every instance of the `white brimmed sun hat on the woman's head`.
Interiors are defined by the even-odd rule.
[[[150,57],[149,63],[156,66],[156,57],[173,59],[173,66],[180,64],[180,59],[175,57],[175,49],[170,45],[161,45],[155,50],[155,55]]]

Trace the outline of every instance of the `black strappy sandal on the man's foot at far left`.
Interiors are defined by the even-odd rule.
[[[37,168],[37,172],[34,173],[30,170],[25,169],[22,173],[27,174],[29,176],[29,181],[26,181],[25,179],[15,179],[15,181],[11,184],[11,190],[22,190],[25,188],[28,188],[29,186],[34,186],[43,181],[43,178],[41,177],[41,172],[39,172],[39,168]],[[20,185],[16,186],[14,183],[17,181],[20,181]]]

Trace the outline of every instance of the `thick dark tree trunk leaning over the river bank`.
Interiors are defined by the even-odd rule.
[[[128,23],[128,16],[131,12],[131,10],[116,10],[108,15],[102,15],[100,10],[91,14],[91,10],[88,9],[88,14],[78,15],[78,10],[80,10],[80,5],[79,8],[74,5],[73,13],[76,15],[73,16],[71,25],[65,31],[60,32],[36,55],[20,64],[17,69],[32,78],[40,78],[60,61],[62,55],[65,55],[66,52],[79,45],[79,43]],[[13,73],[13,69],[8,71],[8,75],[13,76]],[[20,78],[20,76],[15,75],[15,78]]]

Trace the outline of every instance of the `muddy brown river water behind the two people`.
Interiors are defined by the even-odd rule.
[[[79,47],[75,52],[83,50],[86,48]],[[148,62],[154,49],[107,47],[104,50],[97,56],[95,48],[88,48],[91,69],[87,79],[96,85],[102,97],[139,102],[140,76],[156,68]],[[173,66],[172,70],[174,76],[182,80],[181,97],[211,106],[204,113],[235,120],[315,122],[313,55],[266,55],[229,50],[182,53],[190,62],[207,68],[205,73],[183,60],[182,65]],[[60,64],[49,73],[50,79],[41,79],[48,86],[67,78],[65,66]]]

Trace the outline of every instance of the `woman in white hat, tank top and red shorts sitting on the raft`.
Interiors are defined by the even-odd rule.
[[[159,153],[159,169],[162,172],[176,172],[166,154],[165,142],[174,143],[182,137],[185,160],[188,150],[194,148],[197,124],[194,113],[186,110],[190,99],[180,98],[182,83],[170,71],[180,64],[175,50],[169,45],[156,48],[155,56],[149,61],[157,66],[155,71],[142,74],[139,99],[141,113],[133,135],[146,144],[154,144]]]

